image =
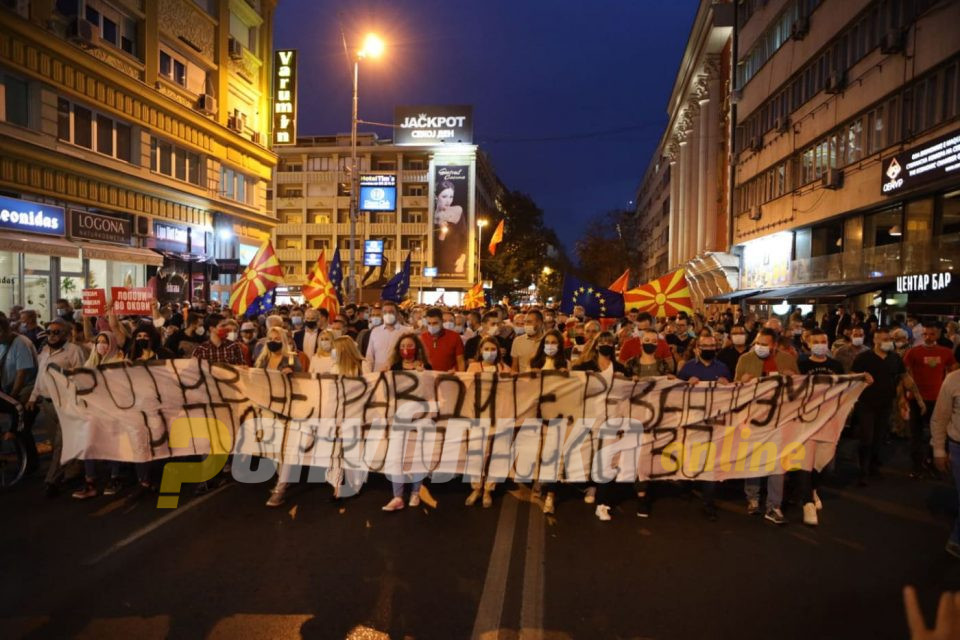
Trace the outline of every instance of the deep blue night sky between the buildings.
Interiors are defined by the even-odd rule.
[[[300,51],[299,135],[350,130],[350,66],[367,31],[360,119],[402,104],[474,105],[474,141],[573,249],[586,219],[629,207],[666,126],[696,0],[280,0],[274,44]],[[361,125],[360,130],[369,129]],[[382,138],[389,128],[374,128]]]

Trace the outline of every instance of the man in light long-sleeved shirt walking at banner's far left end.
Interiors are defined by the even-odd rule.
[[[50,457],[50,467],[47,469],[46,477],[46,493],[51,498],[59,492],[60,483],[64,476],[63,468],[60,465],[63,434],[60,432],[60,420],[57,418],[57,412],[50,401],[53,393],[53,383],[50,380],[49,372],[47,372],[47,366],[55,364],[61,369],[76,369],[83,366],[86,358],[83,355],[83,349],[70,341],[71,330],[70,323],[63,318],[56,318],[47,323],[47,343],[37,357],[37,382],[30,394],[30,399],[27,401],[28,411],[32,411],[34,407],[40,410],[41,420],[44,425],[47,425],[53,443],[53,453]]]

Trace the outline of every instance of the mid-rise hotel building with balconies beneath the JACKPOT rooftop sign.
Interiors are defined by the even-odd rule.
[[[284,279],[296,295],[321,251],[329,263],[339,248],[347,274],[350,136],[301,136],[295,146],[277,147],[277,153],[271,200],[278,221],[275,247]],[[380,287],[409,254],[414,297],[423,293],[422,299],[433,301],[445,294],[448,304],[459,301],[477,282],[477,221],[498,217],[503,187],[486,155],[472,144],[394,144],[362,133],[357,137],[357,165],[361,188],[354,259],[361,299],[378,299]],[[395,186],[393,206],[384,204],[380,210],[373,210],[379,204],[365,206],[367,178]],[[455,187],[447,190],[452,210],[459,209],[455,221],[441,219],[436,211],[437,197],[447,184]],[[454,226],[456,234],[450,230]],[[382,258],[369,259],[368,241],[382,243]],[[451,250],[443,249],[443,243]],[[430,269],[425,272],[425,267],[437,269],[436,275],[430,275]]]

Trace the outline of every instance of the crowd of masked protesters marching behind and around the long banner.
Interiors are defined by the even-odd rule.
[[[42,327],[30,309],[14,307],[8,315],[0,314],[0,409],[23,411],[30,417],[20,437],[29,450],[31,470],[37,466],[37,453],[30,425],[46,426],[52,446],[47,495],[60,493],[66,476],[78,467],[82,480],[72,495],[88,499],[124,491],[123,465],[89,460],[83,465],[60,464],[61,438],[46,379],[48,364],[70,369],[197,358],[288,373],[593,371],[610,379],[671,376],[688,384],[745,382],[775,373],[862,373],[870,384],[851,418],[859,447],[858,482],[865,485],[880,475],[882,445],[891,436],[910,440],[913,477],[946,471],[948,448],[956,448],[955,455],[960,455],[960,401],[956,405],[952,401],[960,396],[960,373],[948,376],[960,359],[957,322],[894,315],[881,324],[874,311],[837,306],[821,317],[799,311],[760,317],[730,308],[653,318],[632,309],[626,317],[612,320],[587,317],[582,307],[569,314],[549,306],[506,304],[465,311],[382,301],[346,305],[336,315],[294,304],[238,318],[217,303],[195,302],[158,306],[147,318],[118,318],[108,306],[104,317],[91,319],[70,302],[58,300],[56,317]],[[942,390],[953,395],[937,403]],[[931,426],[932,416],[938,417]],[[833,449],[824,453],[832,458]],[[104,466],[109,471],[105,481],[98,478],[99,467]],[[148,464],[135,465],[135,471],[131,497],[151,491],[156,475]],[[280,469],[268,506],[284,503],[298,471]],[[803,522],[816,525],[822,509],[818,474],[795,475]],[[638,482],[632,487],[638,516],[650,516],[657,484]],[[714,520],[715,483],[699,484],[703,512]],[[761,508],[763,484],[766,501]],[[474,482],[466,504],[491,506],[495,488],[490,482]],[[553,513],[558,486],[544,483],[534,489],[542,496],[543,511]],[[584,501],[595,505],[595,514],[603,521],[611,518],[611,507],[625,491],[614,483],[583,489]],[[394,483],[393,498],[383,509],[417,506],[422,494],[419,483]],[[744,494],[747,513],[763,515],[775,524],[787,521],[784,475],[768,476],[765,483],[749,479]],[[960,528],[948,551],[960,557]]]

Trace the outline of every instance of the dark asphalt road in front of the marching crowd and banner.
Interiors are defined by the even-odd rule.
[[[893,468],[853,483],[851,442],[825,478],[818,528],[745,515],[742,483],[708,522],[685,486],[652,517],[629,496],[601,523],[570,489],[545,518],[524,487],[463,505],[383,513],[389,486],[331,500],[306,486],[269,510],[264,486],[155,497],[0,495],[0,636],[6,638],[905,638],[904,584],[929,620],[960,561],[943,545],[950,484]]]

